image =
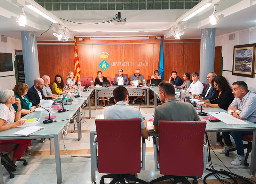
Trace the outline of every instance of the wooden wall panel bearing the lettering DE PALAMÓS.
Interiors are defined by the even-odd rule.
[[[139,68],[148,83],[148,76],[154,71],[154,44],[124,45],[124,62],[130,63],[130,66],[124,67],[124,73],[128,74],[129,79],[135,69]]]

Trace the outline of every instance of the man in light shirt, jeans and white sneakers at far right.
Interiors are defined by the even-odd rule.
[[[232,85],[232,93],[235,98],[228,107],[228,114],[231,114],[238,119],[246,119],[252,123],[256,123],[256,94],[248,90],[247,84],[244,81],[237,81]],[[230,140],[230,133],[235,140],[237,150],[237,155],[231,164],[238,166],[241,165],[245,159],[242,136],[252,135],[253,131],[222,132],[226,146],[219,151],[220,154],[225,154],[227,150],[234,148]]]

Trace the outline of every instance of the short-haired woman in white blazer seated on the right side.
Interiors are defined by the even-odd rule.
[[[204,86],[202,82],[199,81],[199,74],[197,72],[193,72],[191,74],[193,82],[191,82],[189,88],[187,89],[187,94],[200,95],[203,93]]]

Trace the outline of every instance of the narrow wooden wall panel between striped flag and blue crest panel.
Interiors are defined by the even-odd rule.
[[[77,45],[81,77],[94,77],[93,46]],[[73,56],[74,57],[74,56]],[[74,65],[73,65],[74,67]]]

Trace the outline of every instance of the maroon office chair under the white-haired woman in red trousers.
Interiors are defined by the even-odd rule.
[[[1,157],[3,156],[2,152],[10,152],[16,147],[17,147],[17,144],[14,144],[14,143],[0,144]],[[17,161],[23,162],[24,166],[28,165],[28,162],[25,159],[17,159]],[[7,163],[2,158],[1,158],[1,162],[2,162],[2,165],[5,167],[5,169],[8,171],[8,173],[10,174],[10,178],[14,178],[14,174],[12,172],[16,171],[16,169],[8,166]]]

